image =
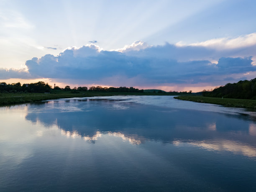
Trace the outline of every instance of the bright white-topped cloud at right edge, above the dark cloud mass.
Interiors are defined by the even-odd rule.
[[[207,41],[173,45],[170,56],[179,60],[208,59],[218,61],[220,57],[256,57],[256,33],[237,38],[215,38]]]

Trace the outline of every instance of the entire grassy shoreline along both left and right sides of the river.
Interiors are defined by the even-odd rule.
[[[174,99],[186,100],[200,103],[210,103],[222,105],[228,108],[244,108],[246,110],[256,110],[256,100],[219,98],[219,97],[204,97],[198,95],[182,95],[168,93],[141,93],[141,92],[54,92],[54,93],[23,93],[23,94],[0,94],[0,107],[18,105],[24,103],[36,103],[43,100],[54,100],[61,98],[73,97],[97,97],[97,96],[117,96],[117,95],[168,95],[174,96]]]

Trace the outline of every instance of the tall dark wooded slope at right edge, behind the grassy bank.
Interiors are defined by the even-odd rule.
[[[203,90],[202,95],[205,97],[256,99],[256,78],[250,81],[244,80],[232,84],[228,83],[211,91]]]

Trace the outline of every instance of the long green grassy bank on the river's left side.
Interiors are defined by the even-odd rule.
[[[140,92],[77,92],[54,90],[51,93],[0,93],[0,106],[15,105],[42,100],[72,98],[72,97],[94,97],[112,95],[170,95],[168,93],[140,93]]]

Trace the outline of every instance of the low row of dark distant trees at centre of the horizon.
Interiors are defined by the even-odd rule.
[[[98,91],[98,92],[143,92],[143,90],[139,90],[133,87],[101,87],[101,86],[97,86],[97,87],[90,87],[89,91]]]

